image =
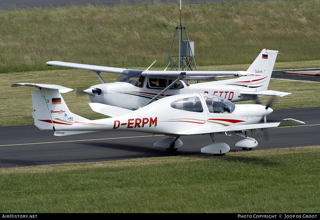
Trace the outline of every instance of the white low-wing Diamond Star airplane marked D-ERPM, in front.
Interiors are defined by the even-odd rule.
[[[254,138],[247,136],[247,131],[256,129],[303,125],[294,119],[284,119],[276,123],[260,123],[261,118],[273,110],[269,107],[251,104],[235,105],[225,98],[200,93],[179,94],[159,99],[138,110],[128,110],[113,106],[112,114],[116,117],[88,120],[73,114],[68,109],[60,92],[72,89],[47,84],[17,83],[16,86],[31,86],[33,118],[41,130],[53,130],[55,136],[81,134],[101,130],[131,130],[145,133],[168,135],[154,144],[155,147],[176,151],[182,146],[181,135],[210,134],[213,143],[201,149],[202,153],[221,154],[229,152],[226,143],[216,142],[215,134],[232,132],[245,138],[235,146],[251,150],[258,145]],[[104,110],[104,104],[90,103],[96,112],[110,115]],[[241,133],[245,132],[245,135]],[[227,133],[226,133],[227,134]]]

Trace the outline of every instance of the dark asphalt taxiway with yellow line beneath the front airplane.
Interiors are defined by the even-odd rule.
[[[249,137],[258,141],[259,149],[319,145],[315,134],[320,132],[320,107],[274,110],[268,122],[294,118],[304,126],[257,130]],[[35,125],[0,127],[0,168],[59,163],[124,160],[143,157],[198,154],[212,143],[209,135],[181,136],[183,146],[174,153],[154,147],[166,136],[152,136],[132,131],[99,131],[65,137],[53,136],[53,131],[39,130]],[[241,138],[225,134],[216,135],[219,142],[227,143],[231,151]]]

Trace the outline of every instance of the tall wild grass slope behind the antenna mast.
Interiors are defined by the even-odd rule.
[[[47,70],[50,60],[113,67],[158,60],[164,68],[179,13],[178,4],[161,3],[2,10],[0,72]],[[264,47],[285,54],[278,62],[318,60],[319,14],[318,1],[207,3],[183,5],[182,24],[197,66],[251,63]]]

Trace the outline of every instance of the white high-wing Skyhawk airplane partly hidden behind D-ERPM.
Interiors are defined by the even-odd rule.
[[[84,92],[93,103],[118,106],[130,110],[146,106],[167,96],[202,93],[215,94],[231,102],[271,95],[282,97],[291,93],[268,90],[272,70],[279,51],[263,49],[247,71],[150,71],[86,64],[49,61],[49,66],[71,67],[94,71],[102,84]],[[100,72],[120,73],[115,83],[105,83]],[[188,84],[183,80],[215,80],[215,77],[241,76],[236,79]]]

